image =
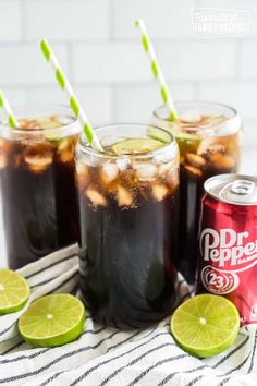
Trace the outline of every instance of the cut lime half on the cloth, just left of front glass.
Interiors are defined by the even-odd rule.
[[[85,322],[81,300],[68,294],[50,294],[35,300],[19,321],[19,330],[34,347],[57,347],[77,339]]]

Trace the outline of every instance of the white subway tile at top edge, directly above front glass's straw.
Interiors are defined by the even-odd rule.
[[[25,0],[24,3],[27,40],[40,39],[46,34],[51,40],[71,43],[110,37],[109,0]]]

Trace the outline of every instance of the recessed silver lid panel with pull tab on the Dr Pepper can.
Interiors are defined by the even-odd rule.
[[[235,180],[228,183],[221,191],[220,197],[232,204],[255,204],[257,200],[257,189],[253,181]]]

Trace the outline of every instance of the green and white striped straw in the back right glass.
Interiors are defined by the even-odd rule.
[[[154,75],[160,83],[161,97],[162,97],[164,105],[168,108],[170,120],[172,122],[176,121],[179,117],[178,117],[178,113],[176,113],[176,110],[174,107],[174,102],[172,100],[171,94],[168,91],[163,73],[161,71],[160,64],[158,63],[154,46],[152,46],[150,38],[147,34],[145,23],[142,19],[139,19],[135,22],[135,26],[139,29],[139,32],[142,34],[142,44],[143,44],[144,50],[146,51],[146,53],[150,58],[151,70],[154,72]]]

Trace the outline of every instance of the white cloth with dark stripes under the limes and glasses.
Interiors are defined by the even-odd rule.
[[[58,251],[20,269],[32,288],[30,300],[50,292],[77,293],[77,246]],[[188,295],[180,277],[179,298]],[[144,330],[122,331],[87,316],[82,337],[54,349],[33,349],[17,335],[23,311],[0,316],[0,385],[88,386],[243,386],[257,385],[257,330],[241,329],[222,354],[199,360],[181,350],[169,318]]]

